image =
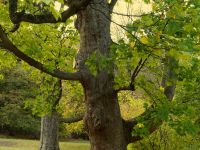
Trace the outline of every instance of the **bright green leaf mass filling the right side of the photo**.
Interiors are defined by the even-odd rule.
[[[186,82],[188,86],[199,83],[198,73],[194,71],[194,68],[198,68],[200,54],[200,24],[197,21],[200,16],[199,3],[155,0],[152,1],[152,9],[151,13],[129,23],[126,27],[126,39],[120,39],[111,47],[118,69],[115,74],[117,87],[129,85],[131,70],[137,66],[140,58],[144,60],[150,54],[145,68],[135,81],[139,89],[146,93],[146,97],[150,98],[148,106],[145,106],[148,113],[139,118],[133,135],[146,137],[148,129],[161,122],[168,122],[180,135],[197,134],[197,107],[188,103],[185,105],[176,96],[174,102],[169,103],[160,81],[167,75],[167,69],[171,76],[167,86],[176,84],[180,88]],[[192,88],[190,92],[192,91],[196,90]],[[177,90],[176,94],[179,92],[181,95],[183,90]]]

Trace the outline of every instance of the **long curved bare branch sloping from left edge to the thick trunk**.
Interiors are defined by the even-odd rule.
[[[0,25],[0,39],[2,43],[2,47],[9,52],[12,52],[15,56],[22,59],[23,61],[27,62],[30,66],[33,66],[42,72],[45,72],[47,74],[50,74],[53,77],[57,77],[59,79],[63,80],[78,80],[81,81],[81,73],[75,72],[75,73],[67,73],[64,71],[60,71],[58,69],[49,70],[45,65],[42,63],[36,61],[35,59],[27,56],[23,52],[21,52],[7,37],[6,33],[4,32],[3,28]]]

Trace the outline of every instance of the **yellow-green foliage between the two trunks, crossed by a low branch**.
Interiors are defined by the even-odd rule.
[[[85,113],[83,89],[80,83],[65,81],[63,82],[63,96],[59,103],[58,111],[63,118],[76,117]],[[71,124],[61,124],[61,136],[86,138],[87,134],[83,121]]]

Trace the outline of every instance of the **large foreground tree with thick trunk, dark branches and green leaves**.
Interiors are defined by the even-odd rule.
[[[53,1],[44,2],[46,4],[42,11],[34,14],[34,9],[19,11],[18,1],[10,0],[10,19],[15,24],[12,31],[18,29],[21,22],[66,22],[69,17],[77,14],[75,27],[80,33],[80,48],[75,57],[75,68],[78,71],[71,73],[48,68],[20,51],[22,47],[8,38],[2,26],[0,46],[42,72],[63,80],[79,81],[82,84],[86,105],[84,122],[92,150],[124,150],[128,143],[142,139],[141,136],[131,135],[137,120],[121,118],[118,92],[134,91],[136,77],[146,61],[155,62],[155,57],[163,57],[163,51],[169,56],[175,56],[173,58],[183,60],[182,57],[199,50],[199,2],[153,1],[152,13],[141,15],[140,19],[127,26],[121,26],[127,32],[128,41],[121,39],[119,44],[114,44],[110,35],[111,14],[114,13],[113,8],[117,0],[64,1],[63,5],[68,5],[68,8],[61,10],[61,13],[55,13],[52,9]],[[121,56],[125,56],[125,60]],[[126,67],[122,67],[120,63]],[[174,64],[176,63],[169,63],[170,67],[178,72]],[[122,70],[125,70],[125,75],[120,74]],[[171,86],[173,81],[167,83]],[[167,87],[168,85],[165,88]],[[164,108],[161,107],[161,110],[165,110]],[[147,117],[145,119],[148,120]],[[155,131],[162,120],[163,117],[156,122],[149,121],[148,131]]]

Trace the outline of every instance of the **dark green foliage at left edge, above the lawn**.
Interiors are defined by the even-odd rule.
[[[17,63],[15,67],[0,69],[4,76],[0,80],[0,130],[7,130],[13,135],[20,133],[38,137],[40,119],[33,116],[30,110],[24,109],[25,101],[34,97],[35,84],[23,77],[27,72],[20,66],[20,63]]]

